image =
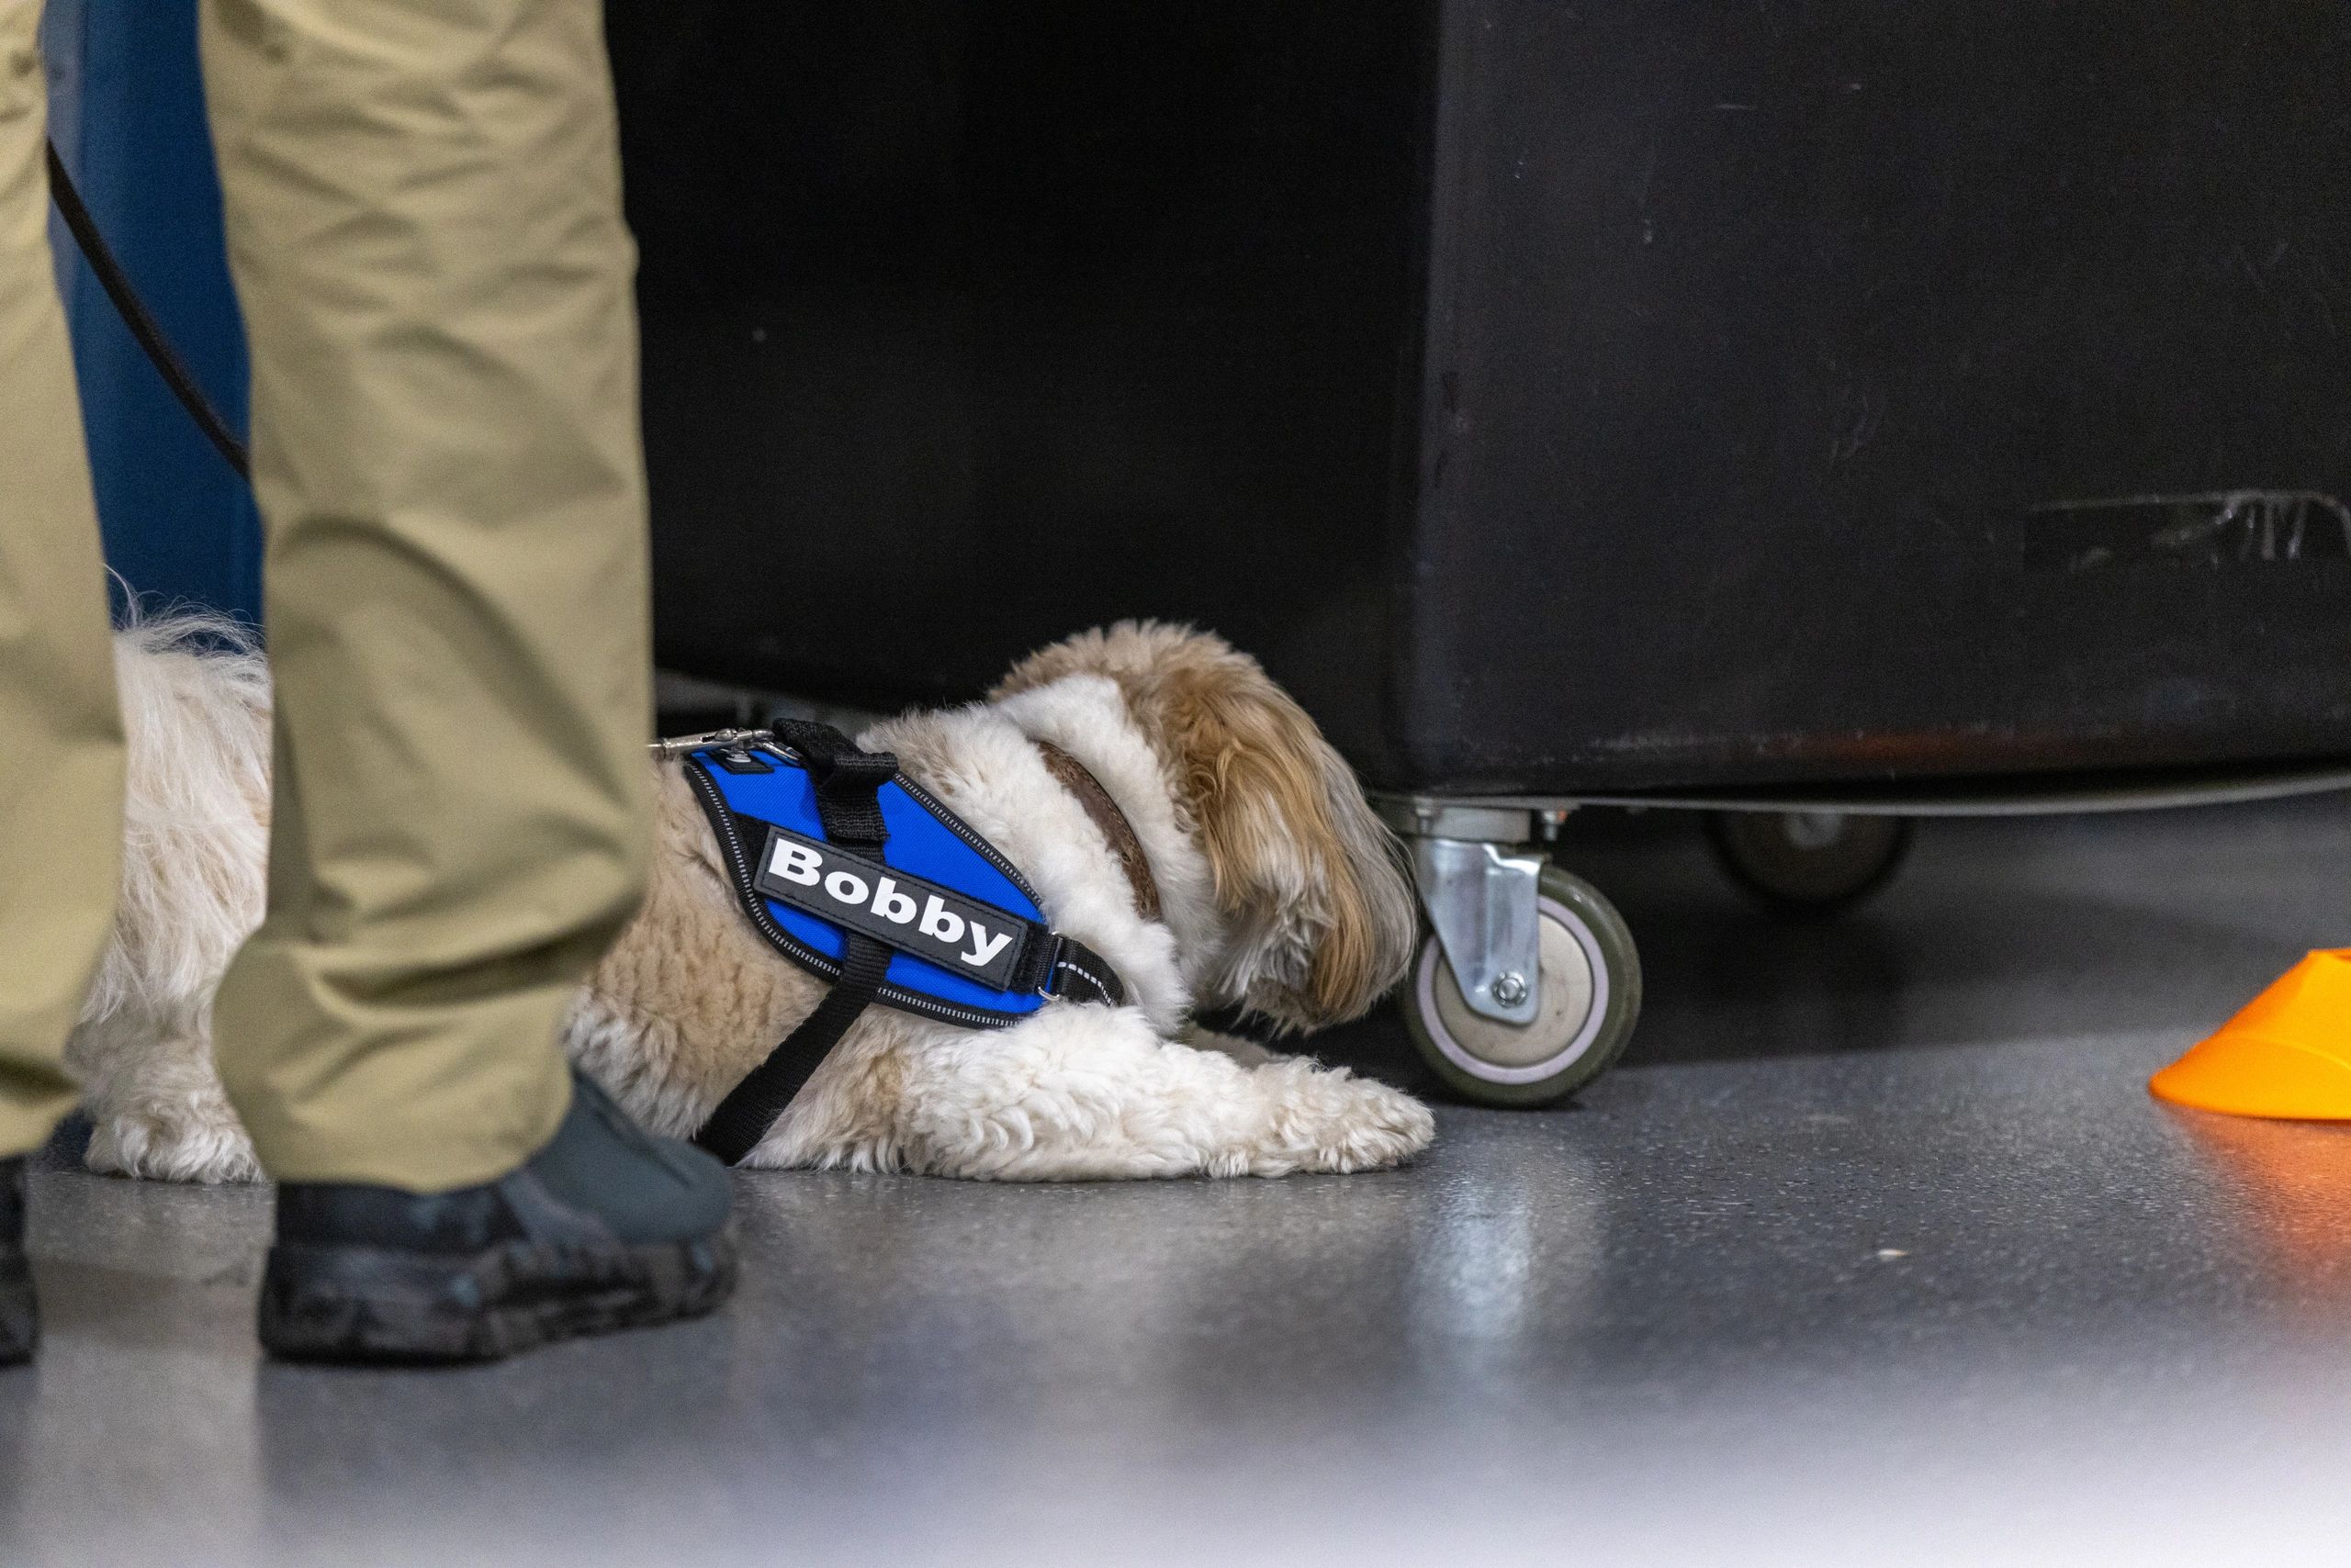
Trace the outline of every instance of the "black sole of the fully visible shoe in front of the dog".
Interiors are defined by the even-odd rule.
[[[261,1345],[282,1361],[454,1363],[703,1316],[734,1293],[726,1234],[628,1248],[513,1241],[475,1258],[273,1246]]]

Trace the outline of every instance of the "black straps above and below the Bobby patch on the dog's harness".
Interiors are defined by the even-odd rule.
[[[882,825],[879,790],[898,776],[898,759],[891,752],[860,752],[849,736],[830,724],[804,719],[781,719],[776,738],[799,755],[816,783],[816,818],[825,827],[825,839],[842,849],[879,856],[889,839],[889,827]],[[809,1084],[832,1046],[882,990],[891,950],[856,931],[844,931],[842,938],[842,978],[832,983],[816,1011],[802,1018],[799,1027],[785,1034],[694,1133],[696,1145],[729,1166],[759,1147],[766,1128],[776,1126],[776,1117]]]

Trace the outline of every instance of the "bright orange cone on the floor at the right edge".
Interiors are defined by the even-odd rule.
[[[2231,1117],[2351,1121],[2351,947],[2288,969],[2146,1086]]]

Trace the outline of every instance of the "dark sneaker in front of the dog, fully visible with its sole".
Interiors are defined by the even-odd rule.
[[[280,1182],[261,1345],[292,1361],[494,1361],[701,1316],[734,1291],[726,1166],[571,1074],[555,1140],[484,1187]]]

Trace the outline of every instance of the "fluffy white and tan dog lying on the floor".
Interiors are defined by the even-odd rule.
[[[223,644],[226,635],[226,644]],[[129,729],[122,905],[68,1063],[94,1171],[254,1180],[212,1070],[212,994],[261,919],[268,672],[200,618],[115,637]],[[872,1006],[748,1166],[994,1180],[1368,1171],[1427,1147],[1427,1107],[1251,1046],[1183,1044],[1194,1006],[1291,1030],[1361,1013],[1404,971],[1413,900],[1347,764],[1255,661],[1121,623],[1023,661],[983,705],[860,736],[990,837],[1128,1004],[1056,1001],[1006,1030]],[[1074,757],[1131,825],[1119,846],[1049,766]],[[823,983],[743,917],[677,764],[656,769],[644,907],[597,964],[564,1048],[647,1126],[689,1135],[804,1018]]]

